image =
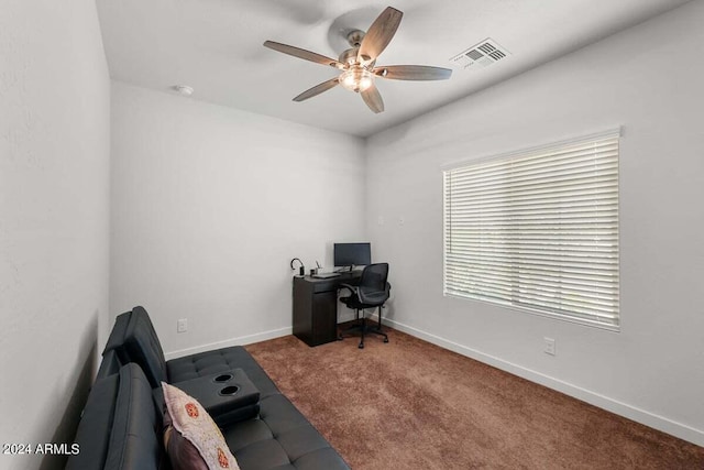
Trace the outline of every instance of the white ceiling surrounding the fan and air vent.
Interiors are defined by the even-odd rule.
[[[371,135],[642,22],[688,0],[97,0],[113,79],[190,99]],[[282,42],[337,58],[340,28],[366,30],[384,8],[404,12],[377,65],[453,68],[447,81],[377,79],[386,110],[336,87],[304,102],[299,92],[336,69],[265,48]],[[361,24],[360,24],[361,23]],[[491,37],[510,56],[486,68],[450,57]],[[173,91],[172,91],[173,92]]]

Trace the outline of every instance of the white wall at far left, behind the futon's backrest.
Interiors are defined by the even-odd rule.
[[[108,320],[109,87],[94,1],[2,2],[1,442],[72,442],[92,380]],[[0,456],[40,466],[63,468]]]

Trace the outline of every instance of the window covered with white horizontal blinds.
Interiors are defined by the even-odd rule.
[[[618,329],[618,131],[446,170],[444,293]]]

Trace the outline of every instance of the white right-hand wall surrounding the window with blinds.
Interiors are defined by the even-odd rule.
[[[689,3],[371,138],[367,223],[396,325],[704,445],[703,22]],[[620,332],[443,297],[441,165],[618,125]]]

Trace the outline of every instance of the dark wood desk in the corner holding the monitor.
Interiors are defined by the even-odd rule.
[[[338,289],[340,284],[358,284],[361,271],[319,280],[294,277],[294,335],[308,346],[338,339]]]

